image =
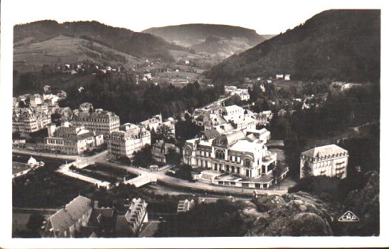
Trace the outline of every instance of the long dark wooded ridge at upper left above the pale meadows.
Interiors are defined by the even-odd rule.
[[[97,41],[102,45],[110,46],[117,51],[138,58],[172,60],[168,50],[186,50],[151,34],[108,26],[98,21],[58,23],[53,20],[43,20],[14,26],[14,43],[16,46],[38,43],[60,35]]]

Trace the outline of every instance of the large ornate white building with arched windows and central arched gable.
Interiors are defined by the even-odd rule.
[[[277,154],[267,151],[265,141],[252,132],[231,131],[213,139],[190,139],[183,147],[183,162],[193,167],[225,171],[257,178],[270,174]]]

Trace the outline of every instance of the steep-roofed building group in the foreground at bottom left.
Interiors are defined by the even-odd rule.
[[[137,235],[142,223],[148,222],[147,203],[142,199],[132,200],[124,216],[115,208],[98,207],[98,201],[77,196],[43,221],[43,238],[99,238]]]

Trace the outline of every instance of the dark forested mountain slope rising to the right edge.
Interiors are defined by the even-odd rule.
[[[215,65],[213,80],[290,74],[293,79],[377,81],[380,10],[329,10]]]

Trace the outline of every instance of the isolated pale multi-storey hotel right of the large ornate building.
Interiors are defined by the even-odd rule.
[[[304,166],[314,176],[336,176],[341,179],[347,176],[348,152],[335,144],[315,147],[302,152],[300,157],[300,179],[304,175]]]

